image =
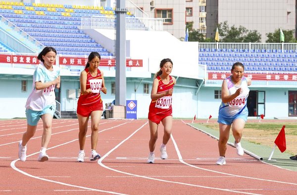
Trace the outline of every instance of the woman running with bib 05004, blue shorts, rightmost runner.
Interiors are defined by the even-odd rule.
[[[229,139],[230,129],[235,138],[234,146],[237,154],[244,155],[241,146],[242,132],[247,122],[247,96],[249,93],[248,85],[251,80],[244,76],[245,66],[242,63],[235,63],[232,66],[232,75],[223,80],[222,84],[222,103],[219,108],[218,123],[220,129],[219,153],[220,157],[217,165],[226,164],[225,153]]]

